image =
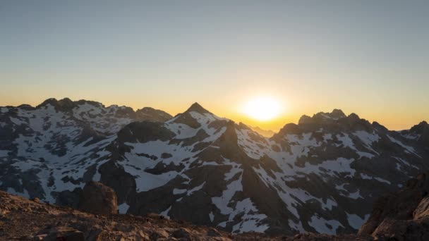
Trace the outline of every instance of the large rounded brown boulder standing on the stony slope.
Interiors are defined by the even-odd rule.
[[[102,183],[90,181],[83,188],[78,209],[93,214],[117,214],[118,201],[116,193]]]

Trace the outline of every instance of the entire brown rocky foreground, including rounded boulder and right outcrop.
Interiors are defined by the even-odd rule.
[[[380,197],[358,234],[337,236],[233,234],[158,214],[113,214],[116,194],[111,188],[92,182],[85,190],[89,196],[83,196],[80,209],[92,214],[0,191],[0,240],[429,240],[429,173]]]

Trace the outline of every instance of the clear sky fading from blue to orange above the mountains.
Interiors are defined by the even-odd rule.
[[[0,106],[90,99],[172,115],[195,101],[278,130],[342,109],[429,121],[429,1],[0,1]],[[270,121],[243,105],[271,97]]]

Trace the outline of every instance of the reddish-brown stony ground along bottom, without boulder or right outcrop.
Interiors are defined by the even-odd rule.
[[[157,214],[90,214],[0,191],[0,240],[356,240],[356,235],[232,234]],[[357,240],[370,240],[359,237]]]

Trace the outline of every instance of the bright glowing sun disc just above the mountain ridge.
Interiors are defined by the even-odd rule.
[[[282,106],[272,97],[257,97],[243,106],[243,113],[258,121],[270,121],[281,112]]]

